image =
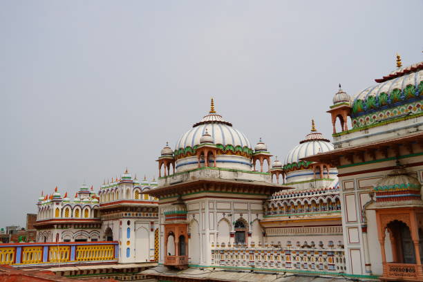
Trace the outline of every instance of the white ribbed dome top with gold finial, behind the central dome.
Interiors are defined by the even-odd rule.
[[[291,164],[293,162],[299,162],[301,158],[306,158],[317,153],[325,153],[333,150],[333,145],[330,140],[323,138],[323,135],[314,128],[314,121],[312,121],[312,130],[306,139],[302,140],[300,144],[289,151],[285,158],[284,164]]]

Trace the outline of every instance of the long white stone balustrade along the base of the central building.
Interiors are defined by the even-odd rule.
[[[212,245],[212,264],[266,270],[346,272],[345,252],[341,247],[224,247],[222,245],[214,247]]]

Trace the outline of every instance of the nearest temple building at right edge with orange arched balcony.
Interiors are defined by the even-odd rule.
[[[423,62],[402,67],[397,56],[375,82],[335,95],[335,149],[303,160],[338,169],[347,272],[423,281]]]

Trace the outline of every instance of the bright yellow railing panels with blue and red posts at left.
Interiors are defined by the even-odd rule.
[[[118,261],[118,242],[0,244],[0,265],[33,266]]]

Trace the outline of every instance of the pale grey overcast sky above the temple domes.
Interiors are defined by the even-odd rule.
[[[341,83],[423,60],[423,1],[0,1],[0,227],[156,158],[209,111],[286,153]]]

